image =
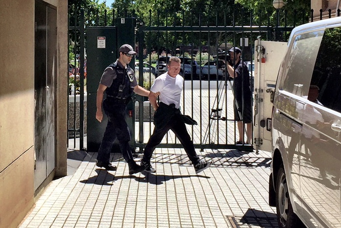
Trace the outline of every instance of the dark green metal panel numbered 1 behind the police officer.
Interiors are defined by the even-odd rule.
[[[117,18],[116,26],[88,27],[87,34],[87,151],[97,152],[103,134],[107,126],[107,115],[104,115],[101,123],[96,116],[96,91],[107,66],[115,62],[119,56],[118,48],[123,44],[135,44],[134,20],[132,18]],[[129,66],[134,68],[134,59]],[[133,151],[135,150],[134,134],[134,103],[127,105],[126,120],[130,130],[129,141]],[[117,143],[114,143],[113,151],[120,151]]]

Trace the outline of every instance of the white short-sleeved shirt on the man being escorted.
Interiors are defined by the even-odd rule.
[[[180,107],[181,91],[184,84],[184,78],[181,75],[171,77],[168,72],[158,76],[154,84],[151,86],[150,91],[160,91],[160,102],[166,105],[175,104],[175,108]]]

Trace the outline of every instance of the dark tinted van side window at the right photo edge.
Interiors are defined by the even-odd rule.
[[[341,113],[341,28],[325,29],[311,85],[320,88],[323,106]]]

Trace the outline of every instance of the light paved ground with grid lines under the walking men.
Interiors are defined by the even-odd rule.
[[[97,153],[69,152],[69,175],[49,184],[20,228],[277,227],[269,152],[197,153],[213,162],[198,175],[183,149],[157,148],[157,172],[129,176],[120,154],[107,172],[95,166]]]

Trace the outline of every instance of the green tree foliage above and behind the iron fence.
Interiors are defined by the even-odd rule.
[[[146,26],[275,27],[277,15],[281,26],[308,22],[310,6],[306,0],[295,0],[295,3],[294,0],[286,0],[284,7],[277,14],[272,0],[115,0],[111,7],[99,3],[99,0],[69,0],[71,19],[78,15],[80,8],[85,9],[85,26],[110,25],[113,18],[134,17]],[[296,15],[302,15],[302,12],[303,16]],[[71,26],[72,24],[70,22]],[[159,52],[161,48],[174,49],[179,45],[214,46],[214,49],[217,49],[222,43],[232,43],[242,35],[244,34],[211,32],[201,34],[199,38],[198,33],[149,32],[146,34],[146,46],[148,51],[155,49]],[[256,37],[257,34],[252,36]]]

